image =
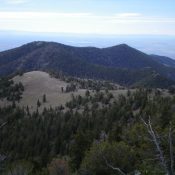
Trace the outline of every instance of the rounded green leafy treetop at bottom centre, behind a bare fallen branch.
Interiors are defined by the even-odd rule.
[[[91,175],[120,174],[108,167],[108,163],[120,167],[124,173],[134,172],[137,165],[136,152],[124,142],[95,143],[86,153],[80,172],[88,171]]]

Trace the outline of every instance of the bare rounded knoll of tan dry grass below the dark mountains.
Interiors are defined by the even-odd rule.
[[[13,78],[15,83],[21,82],[24,85],[24,92],[20,103],[20,107],[29,106],[31,111],[37,109],[37,100],[41,102],[40,110],[44,107],[56,107],[65,105],[71,100],[72,93],[62,93],[61,88],[66,88],[68,83],[60,81],[59,79],[50,77],[49,74],[41,71],[32,71],[25,73],[22,76]],[[84,95],[85,89],[79,89],[74,92],[74,95]],[[43,95],[46,95],[46,103],[43,103]]]

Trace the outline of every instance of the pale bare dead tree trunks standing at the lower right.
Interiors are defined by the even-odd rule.
[[[173,147],[172,147],[172,129],[171,129],[171,126],[169,128],[169,148],[170,148],[170,164],[171,164],[171,168],[169,169],[168,168],[168,165],[167,165],[167,161],[165,159],[165,156],[164,156],[164,153],[163,153],[163,150],[160,146],[160,141],[159,141],[159,136],[156,134],[156,132],[154,131],[154,129],[152,128],[152,124],[151,124],[151,119],[150,119],[150,116],[149,116],[149,119],[148,119],[148,122],[146,122],[143,118],[141,118],[142,122],[144,123],[145,127],[147,128],[147,131],[149,133],[149,135],[151,136],[152,138],[152,141],[156,147],[156,150],[159,154],[159,161],[160,163],[162,164],[165,172],[167,175],[173,175],[174,174],[174,161],[173,161]]]

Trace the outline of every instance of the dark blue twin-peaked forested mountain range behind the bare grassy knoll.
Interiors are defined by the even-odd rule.
[[[164,88],[175,84],[174,60],[147,55],[126,44],[99,49],[38,41],[0,52],[1,76],[32,70],[61,71],[124,86]]]

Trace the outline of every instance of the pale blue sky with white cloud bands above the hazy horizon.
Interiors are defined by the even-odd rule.
[[[175,35],[175,0],[0,0],[0,30]]]

